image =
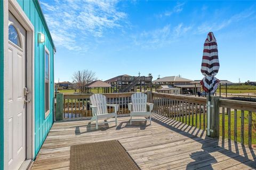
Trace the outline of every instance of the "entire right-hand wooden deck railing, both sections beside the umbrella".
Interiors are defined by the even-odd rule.
[[[206,130],[206,98],[153,92],[154,113]],[[256,145],[256,103],[211,97],[211,137]]]

